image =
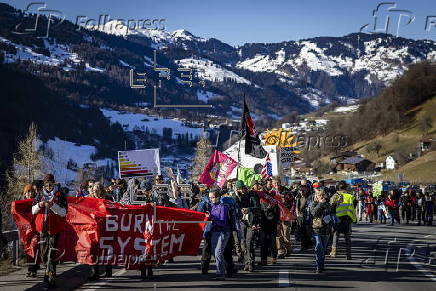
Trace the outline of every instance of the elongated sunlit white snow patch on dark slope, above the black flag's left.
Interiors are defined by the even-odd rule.
[[[251,84],[247,79],[207,59],[187,58],[175,62],[182,67],[195,69],[200,79],[211,82],[223,82],[224,79],[231,79],[237,83]]]

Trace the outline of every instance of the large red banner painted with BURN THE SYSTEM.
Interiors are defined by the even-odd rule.
[[[19,200],[11,211],[26,254],[37,258],[39,234],[31,208],[32,200]],[[59,261],[128,269],[158,265],[175,256],[197,255],[205,220],[204,213],[187,209],[68,197],[56,256]]]

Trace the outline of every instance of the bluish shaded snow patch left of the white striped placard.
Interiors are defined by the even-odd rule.
[[[42,142],[40,142],[42,145]],[[90,145],[78,145],[73,142],[62,140],[58,137],[50,139],[45,143],[45,147],[49,148],[53,153],[53,158],[45,158],[47,170],[52,172],[56,181],[61,184],[70,184],[71,181],[77,179],[77,172],[67,169],[69,160],[74,161],[79,168],[86,163],[95,163],[97,167],[106,165],[116,165],[112,159],[93,161],[91,156],[94,155],[97,149]],[[115,173],[114,173],[115,175]]]

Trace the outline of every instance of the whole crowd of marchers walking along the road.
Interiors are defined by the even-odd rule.
[[[168,191],[157,186],[167,185]],[[192,183],[190,195],[182,193],[175,180],[166,183],[162,175],[153,179],[112,179],[110,185],[88,180],[74,193],[76,197],[108,199],[122,204],[153,203],[206,213],[211,223],[203,233],[201,272],[207,274],[215,258],[216,280],[225,280],[240,271],[261,271],[268,264],[295,252],[314,252],[314,271],[325,271],[325,256],[336,257],[338,240],[345,240],[345,256],[352,260],[352,226],[359,220],[370,223],[432,225],[435,192],[417,189],[382,191],[374,197],[371,188],[351,187],[345,181],[326,186],[323,181],[301,180],[284,186],[278,177],[253,181],[228,180],[222,188]],[[71,193],[48,174],[23,189],[23,199],[33,199],[32,214],[40,236],[40,256],[44,281],[55,286],[56,246],[66,216],[67,195]],[[292,219],[283,219],[285,207]],[[260,252],[256,252],[260,249]],[[260,253],[260,258],[256,254]],[[237,258],[234,260],[234,257]],[[173,260],[168,261],[168,263]],[[112,276],[112,266],[104,276]],[[28,277],[36,277],[39,264],[28,266]],[[99,280],[101,270],[92,266],[89,280]],[[103,274],[103,273],[102,273]],[[140,270],[145,280],[153,278],[152,267]]]

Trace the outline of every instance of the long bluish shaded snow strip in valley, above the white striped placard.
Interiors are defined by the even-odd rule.
[[[155,130],[156,134],[162,136],[164,128],[172,128],[173,137],[176,134],[188,133],[189,135],[192,134],[192,139],[199,137],[202,131],[201,128],[188,127],[177,119],[166,119],[146,114],[122,112],[112,109],[101,108],[100,110],[103,115],[111,121],[111,123],[120,123],[126,131],[133,131],[135,128],[139,128],[141,130],[148,128],[150,131]]]

